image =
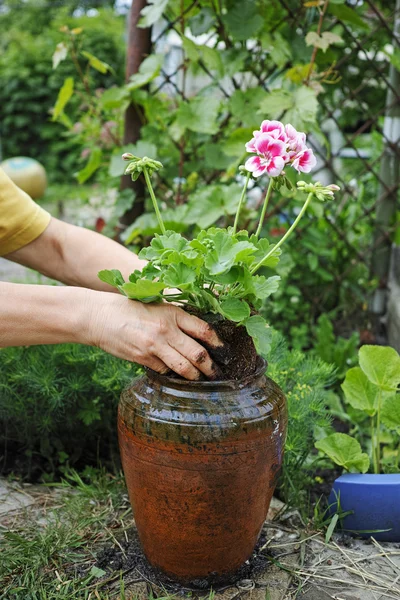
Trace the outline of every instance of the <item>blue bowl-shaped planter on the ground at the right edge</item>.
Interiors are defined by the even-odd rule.
[[[341,520],[343,530],[378,541],[400,542],[400,474],[346,474],[329,496],[330,512],[352,511]]]

